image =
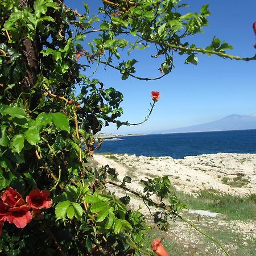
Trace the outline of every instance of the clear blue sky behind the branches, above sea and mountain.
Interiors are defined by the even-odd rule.
[[[82,13],[80,0],[67,0],[67,6]],[[86,1],[91,13],[97,13],[101,1]],[[189,43],[197,47],[209,46],[213,36],[231,44],[234,49],[229,54],[253,57],[256,42],[252,24],[256,21],[256,1],[234,0],[187,0],[190,12],[200,11],[209,3],[209,26],[204,33],[189,38]],[[90,38],[85,39],[85,43]],[[86,48],[86,46],[85,46]],[[137,73],[141,77],[158,77],[160,62],[152,60],[154,48],[136,51],[132,57],[139,60]],[[143,121],[150,109],[151,91],[160,92],[150,119],[139,126],[115,125],[102,129],[104,133],[144,134],[172,128],[197,125],[215,121],[230,114],[256,114],[256,61],[226,60],[217,56],[199,55],[199,64],[184,64],[184,56],[174,57],[175,69],[161,80],[141,81],[133,77],[123,81],[121,74],[112,68],[99,69],[97,77],[106,88],[112,86],[123,93],[121,107],[124,114],[121,121],[137,123]],[[121,57],[122,59],[122,57]],[[126,59],[124,55],[123,59]],[[86,64],[85,62],[82,64]],[[89,69],[86,70],[90,74]]]

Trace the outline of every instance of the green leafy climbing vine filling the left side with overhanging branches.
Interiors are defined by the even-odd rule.
[[[177,54],[186,55],[185,63],[192,64],[197,64],[198,53],[255,58],[228,55],[225,50],[232,47],[217,38],[207,48],[184,43],[185,37],[208,25],[207,5],[200,13],[181,15],[179,10],[186,5],[177,0],[103,0],[98,15],[89,15],[86,3],[84,14],[79,14],[63,0],[28,1],[27,7],[22,2],[2,0],[0,5],[0,190],[10,186],[24,196],[32,189],[47,189],[53,207],[23,229],[5,222],[0,251],[150,255],[138,246],[146,230],[144,216],[127,208],[129,197],[118,199],[105,184],[165,210],[163,223],[169,216],[179,216],[183,205],[170,194],[168,177],[143,181],[146,193],[141,195],[126,187],[129,177],[122,184],[108,181],[108,176],[117,175],[108,166],[89,168],[93,134],[110,122],[135,124],[118,121],[122,93],[82,71],[97,63],[118,69],[122,79],[150,80],[134,75],[137,60],[118,61],[120,50],[129,55],[151,44],[157,49],[153,57],[163,56],[162,76],[171,72]],[[94,32],[94,38],[87,40]],[[87,64],[79,64],[80,57]],[[152,195],[160,198],[160,204],[152,201]]]

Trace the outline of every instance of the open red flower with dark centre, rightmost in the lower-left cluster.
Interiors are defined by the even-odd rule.
[[[27,206],[32,209],[48,209],[52,206],[52,199],[49,198],[48,190],[40,191],[38,188],[30,191],[26,197]]]

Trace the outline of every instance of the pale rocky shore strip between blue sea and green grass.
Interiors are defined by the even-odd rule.
[[[256,154],[217,153],[183,159],[96,154],[93,158],[100,165],[115,168],[120,181],[130,175],[140,189],[141,179],[168,175],[175,189],[185,193],[204,189],[240,196],[256,193]]]

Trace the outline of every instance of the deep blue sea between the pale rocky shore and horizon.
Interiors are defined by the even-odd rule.
[[[174,159],[218,152],[256,153],[256,130],[151,134],[119,138],[122,140],[104,141],[96,152],[172,156]]]

